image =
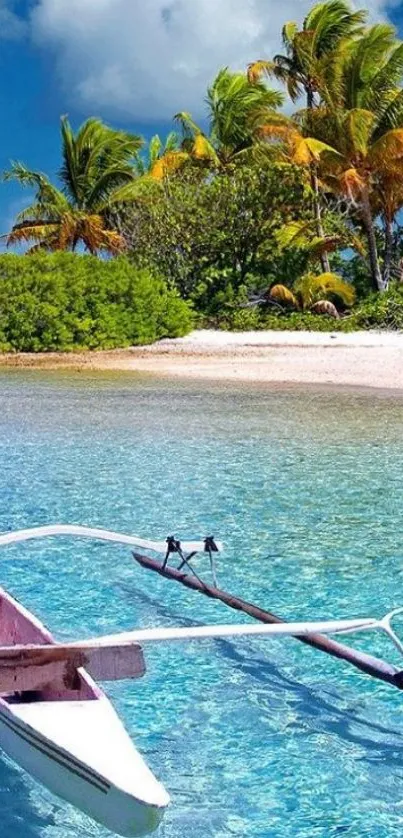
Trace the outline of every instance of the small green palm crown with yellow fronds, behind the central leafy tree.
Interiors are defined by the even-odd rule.
[[[244,73],[220,70],[207,91],[208,131],[190,114],[176,114],[182,129],[182,148],[196,161],[219,168],[242,159],[253,147],[256,129],[283,102],[281,93]]]

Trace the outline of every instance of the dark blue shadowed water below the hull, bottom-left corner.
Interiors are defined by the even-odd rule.
[[[0,751],[0,834],[4,838],[41,838],[54,826],[52,813],[41,815],[31,801],[23,774]]]

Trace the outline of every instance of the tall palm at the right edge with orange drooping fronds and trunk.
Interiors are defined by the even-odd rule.
[[[374,213],[380,211],[387,218],[389,235],[391,211],[396,214],[401,206],[396,197],[401,196],[403,180],[402,75],[403,44],[396,40],[394,27],[372,26],[340,61],[335,83],[328,87],[329,104],[309,114],[310,131],[327,146],[320,153],[321,176],[363,224],[373,285],[380,291],[387,288],[389,268],[382,277]],[[308,130],[308,118],[305,126]],[[390,263],[388,246],[390,241],[386,247]]]

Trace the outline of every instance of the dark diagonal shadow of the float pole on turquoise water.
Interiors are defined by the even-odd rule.
[[[184,618],[182,613],[177,613],[158,598],[144,591],[123,584],[119,585],[119,590],[124,596],[136,598],[147,606],[151,606],[159,616],[177,625],[187,627],[202,625],[197,620]],[[332,701],[332,693],[328,687],[326,688],[327,697],[325,697],[323,693],[318,692],[317,684],[315,687],[309,687],[284,675],[281,669],[268,658],[254,656],[252,644],[245,640],[242,642],[242,647],[239,642],[220,638],[215,639],[214,643],[220,648],[223,657],[231,661],[238,672],[270,688],[267,696],[264,697],[268,711],[270,711],[270,700],[273,696],[292,701],[293,710],[298,713],[299,718],[298,725],[293,726],[294,735],[300,733],[301,736],[305,736],[309,727],[310,735],[312,733],[336,735],[344,742],[359,745],[367,752],[359,757],[363,762],[387,762],[388,765],[397,768],[403,767],[401,731],[365,718],[352,707],[340,708],[339,704],[345,700],[342,695],[333,691],[334,701]],[[357,677],[360,676],[357,675]]]

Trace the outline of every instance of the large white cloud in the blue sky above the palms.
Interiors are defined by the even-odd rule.
[[[72,101],[103,115],[154,121],[178,110],[200,116],[206,85],[218,68],[243,68],[278,51],[284,21],[301,19],[311,5],[312,0],[37,0],[31,22],[36,42],[53,47]],[[383,0],[355,5],[367,7],[374,18],[386,14]]]

